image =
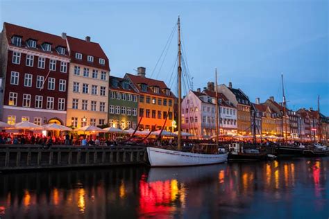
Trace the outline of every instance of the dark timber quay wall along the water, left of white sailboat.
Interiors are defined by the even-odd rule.
[[[0,172],[10,170],[76,168],[145,164],[141,146],[51,146],[0,145]]]

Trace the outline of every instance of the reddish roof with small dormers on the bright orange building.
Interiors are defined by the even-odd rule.
[[[167,96],[165,94],[165,92],[162,91],[162,89],[169,89],[169,87],[167,87],[165,82],[163,82],[162,80],[155,80],[155,79],[152,79],[152,78],[136,76],[136,75],[133,75],[131,73],[126,73],[126,77],[130,78],[131,82],[133,82],[133,84],[135,85],[135,87],[138,89],[138,91],[140,93],[153,94],[153,95],[158,95],[158,96]],[[147,85],[146,91],[142,91],[141,87],[139,86],[140,84]],[[153,92],[151,87],[159,87],[160,88],[159,93]],[[173,98],[175,97],[172,92],[170,92],[170,94],[171,94],[170,97],[173,97]]]

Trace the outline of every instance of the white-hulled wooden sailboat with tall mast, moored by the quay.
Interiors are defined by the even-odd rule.
[[[167,150],[163,148],[147,147],[147,155],[151,166],[199,166],[208,164],[219,164],[227,160],[227,152],[212,150],[214,153],[196,153],[181,151],[181,49],[180,49],[180,18],[178,17],[178,150]],[[216,74],[217,78],[217,74]],[[217,79],[216,79],[217,80]],[[217,83],[217,81],[216,81]],[[218,100],[216,101],[218,107]],[[218,127],[218,119],[216,120]],[[218,138],[218,134],[217,134]],[[218,141],[216,141],[218,143]]]

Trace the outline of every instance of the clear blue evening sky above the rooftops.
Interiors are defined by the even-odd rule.
[[[282,100],[317,108],[329,116],[328,1],[1,1],[0,20],[99,42],[111,74],[146,67],[146,76],[171,78],[176,33],[162,68],[155,64],[180,15],[183,44],[194,89],[214,80],[233,82],[252,101]],[[153,73],[152,73],[153,72]],[[170,79],[171,78],[171,79]]]

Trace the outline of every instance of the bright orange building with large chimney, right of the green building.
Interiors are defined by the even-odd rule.
[[[126,73],[124,76],[139,95],[138,121],[140,130],[165,130],[172,131],[174,121],[175,96],[162,80],[146,78],[146,69],[137,68],[137,75]],[[166,120],[167,118],[167,120]]]

